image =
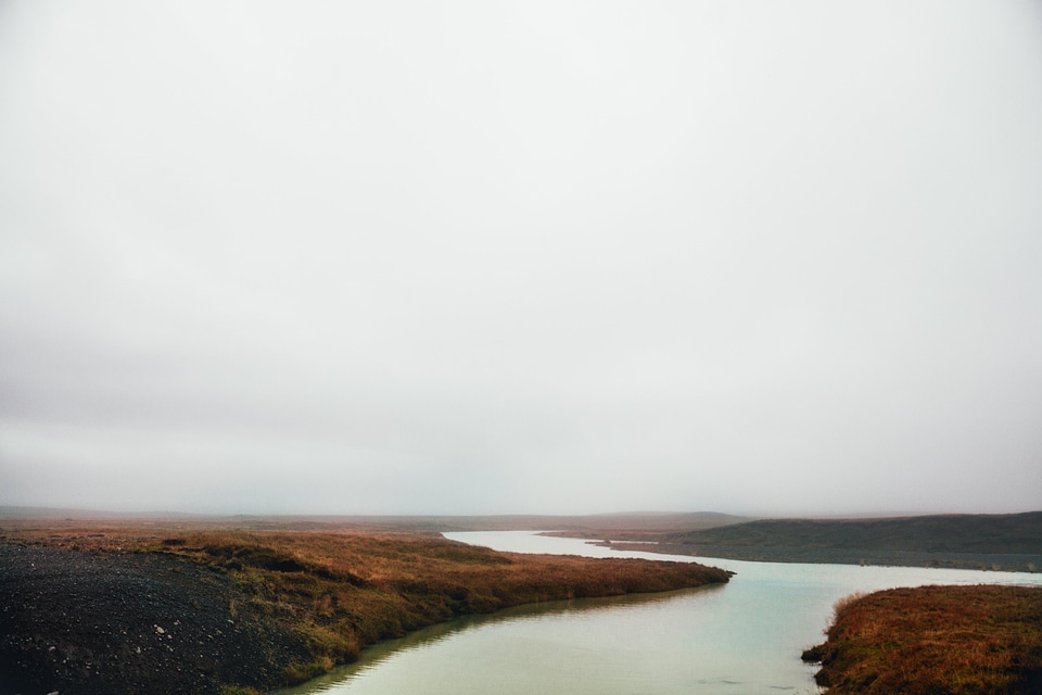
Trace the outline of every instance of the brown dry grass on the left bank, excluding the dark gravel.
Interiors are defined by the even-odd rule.
[[[284,665],[288,683],[351,661],[377,641],[465,614],[729,577],[695,564],[498,553],[421,532],[69,520],[7,522],[0,533],[81,551],[166,553],[227,573],[247,591],[252,608],[306,637],[312,660]]]

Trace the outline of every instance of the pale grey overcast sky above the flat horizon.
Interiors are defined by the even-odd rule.
[[[1042,508],[1042,4],[4,0],[0,505]]]

